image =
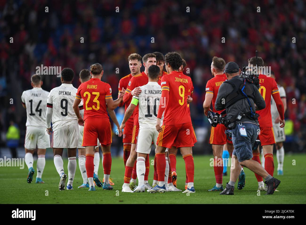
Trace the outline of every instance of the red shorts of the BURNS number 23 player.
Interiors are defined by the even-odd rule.
[[[106,118],[87,118],[84,122],[82,146],[96,146],[99,138],[102,146],[112,143],[112,127]]]

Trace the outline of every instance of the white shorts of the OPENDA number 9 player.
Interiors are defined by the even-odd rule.
[[[79,141],[79,125],[70,124],[53,131],[52,148],[76,148]]]

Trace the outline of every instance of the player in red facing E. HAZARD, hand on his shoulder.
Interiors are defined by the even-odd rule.
[[[140,86],[143,86],[148,83],[149,78],[147,76],[148,68],[151,65],[156,65],[156,58],[154,54],[145,54],[142,58],[142,62],[144,64],[144,72],[140,73],[131,78],[129,84],[126,88],[125,94],[123,96],[123,101],[125,103],[131,102],[133,96],[139,96],[141,93]],[[160,80],[158,82],[160,84]],[[128,160],[126,161],[125,165],[125,173],[124,173],[124,184],[122,186],[122,192],[132,192],[132,189],[135,187],[137,173],[136,173],[136,159],[137,159],[137,152],[136,143],[137,143],[137,135],[139,130],[139,123],[138,123],[138,106],[135,108],[133,113],[134,118],[134,126],[132,131],[132,146],[131,146],[131,153],[129,155]],[[134,167],[134,170],[133,170]],[[144,185],[146,189],[152,188],[151,185],[148,183],[148,175],[150,170],[150,161],[149,156],[146,157],[146,172],[144,175]],[[131,179],[132,176],[132,179]]]

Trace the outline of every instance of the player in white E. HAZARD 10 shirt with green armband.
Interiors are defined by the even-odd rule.
[[[145,185],[144,185],[144,174],[146,171],[145,160],[147,154],[151,152],[151,144],[152,141],[156,148],[156,139],[158,136],[158,131],[156,130],[156,116],[159,106],[159,101],[162,94],[162,88],[157,83],[159,79],[159,72],[160,69],[156,65],[151,65],[148,68],[148,80],[149,82],[141,86],[141,93],[139,96],[133,96],[131,104],[127,108],[125,112],[125,116],[123,118],[122,124],[120,126],[120,130],[125,127],[125,122],[129,119],[132,115],[134,109],[138,105],[139,107],[139,133],[137,137],[137,145],[136,145],[136,152],[137,152],[137,162],[136,162],[136,171],[137,171],[137,178],[138,178],[138,186],[134,189],[134,191],[126,191],[123,190],[125,187],[122,187],[124,192],[144,192]],[[166,157],[166,162],[167,157]],[[165,171],[165,181],[168,183],[168,174],[169,174],[169,164],[166,168],[168,171]],[[173,185],[172,185],[173,186]],[[176,189],[173,186],[174,189]],[[129,189],[129,186],[126,187]],[[168,191],[175,191],[172,188],[167,189]]]

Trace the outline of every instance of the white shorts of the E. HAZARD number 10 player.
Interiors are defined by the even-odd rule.
[[[159,133],[156,129],[139,129],[136,152],[150,154],[152,141],[156,148],[156,140],[158,134]]]

